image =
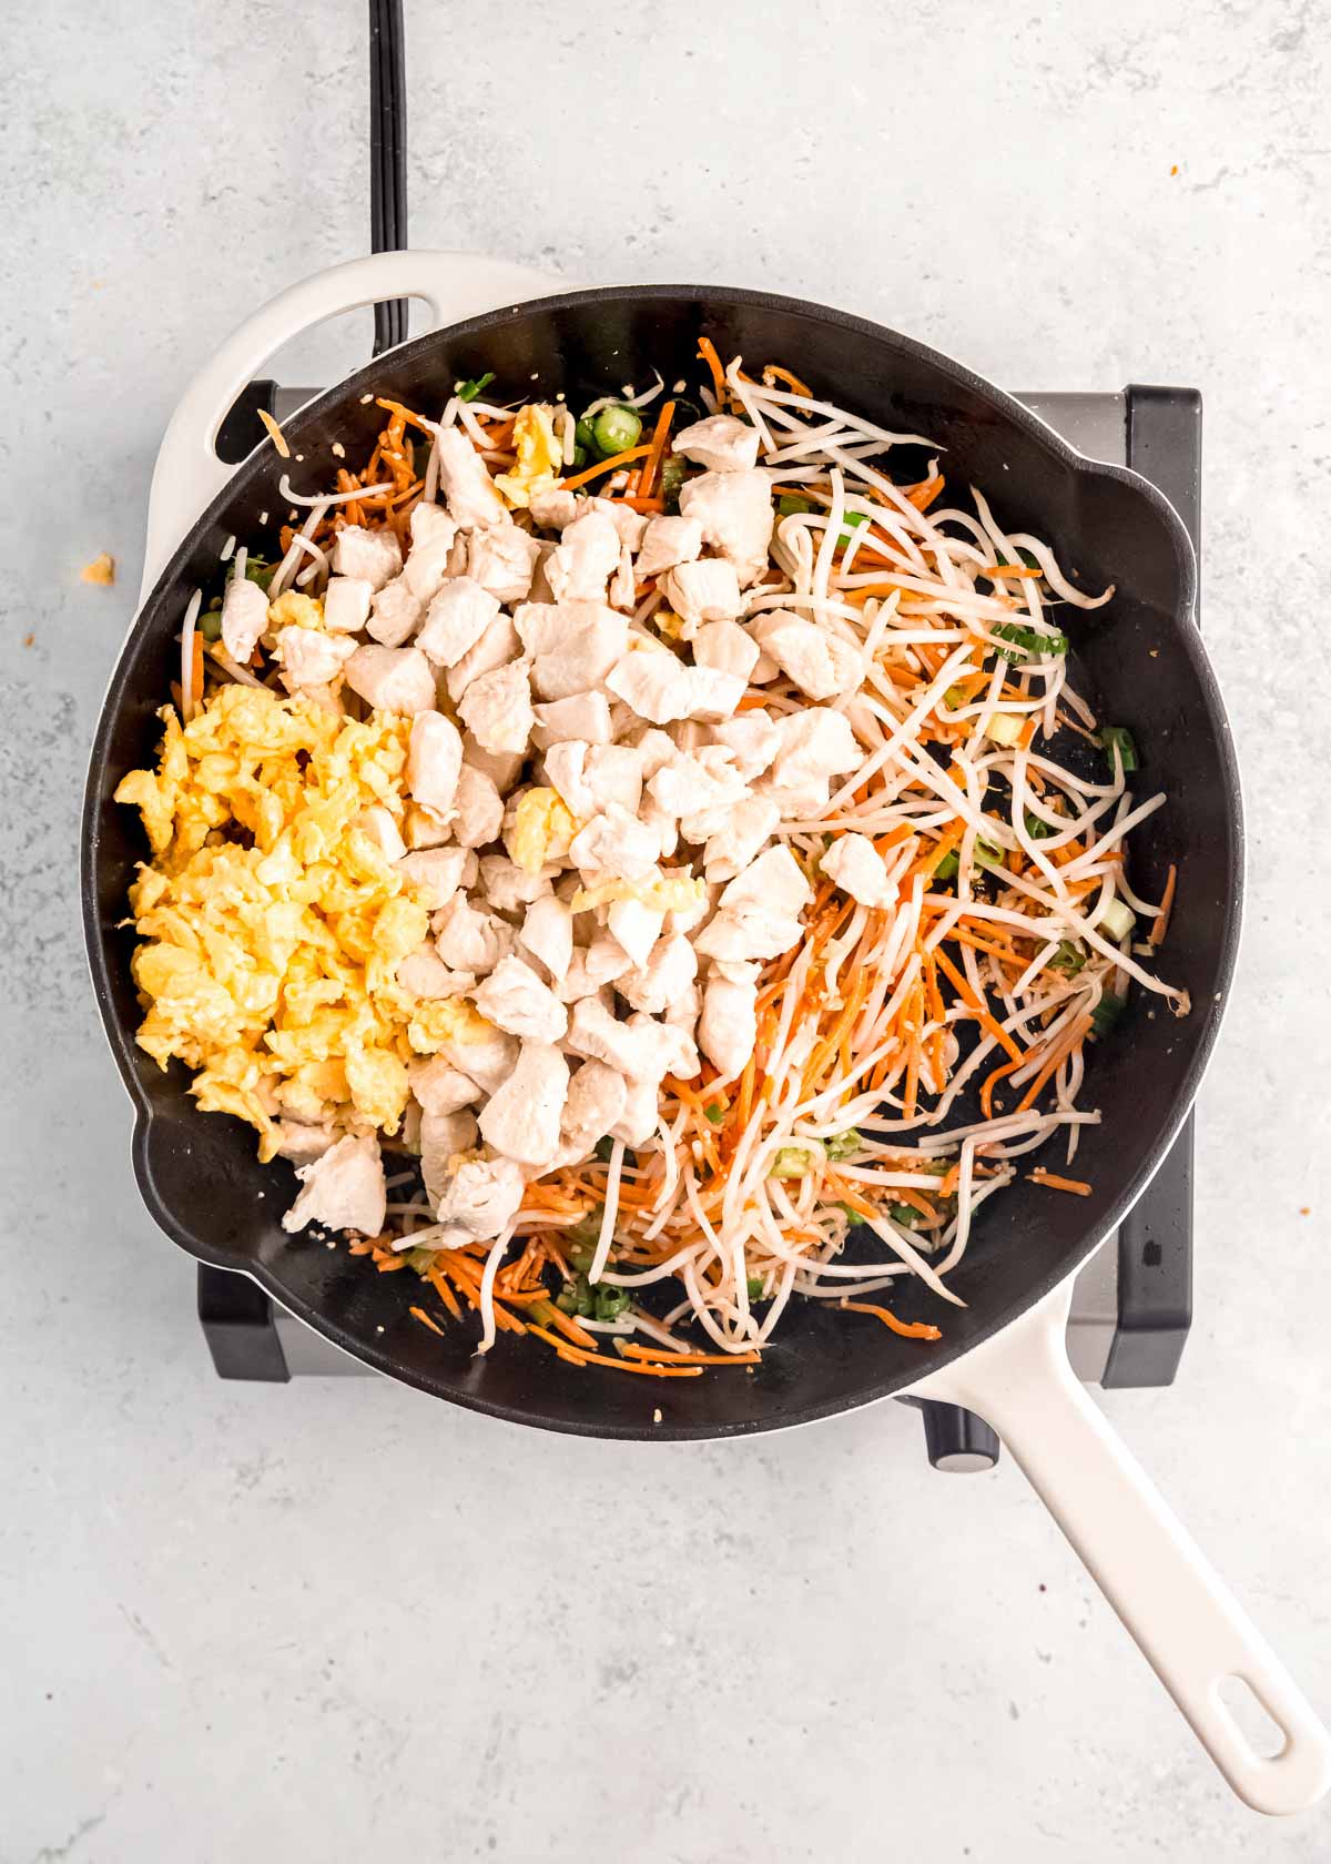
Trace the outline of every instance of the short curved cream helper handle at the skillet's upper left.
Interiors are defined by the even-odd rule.
[[[231,477],[214,453],[218,427],[246,382],[291,337],[382,298],[423,298],[431,328],[501,304],[567,291],[552,272],[457,252],[377,252],[302,278],[261,306],[194,377],[162,438],[147,501],[140,604],[203,507]]]

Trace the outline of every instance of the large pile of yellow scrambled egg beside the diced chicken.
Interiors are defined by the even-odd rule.
[[[412,1055],[490,1029],[397,984],[429,911],[358,820],[380,805],[401,826],[410,718],[224,686],[162,721],[157,770],[116,790],[153,850],[130,889],[140,1048],[196,1070],[199,1107],[255,1126],[261,1158],[283,1115],[395,1133]]]

